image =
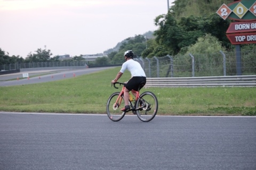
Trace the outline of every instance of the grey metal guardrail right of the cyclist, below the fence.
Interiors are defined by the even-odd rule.
[[[145,87],[256,87],[256,75],[192,77],[192,78],[147,78]]]

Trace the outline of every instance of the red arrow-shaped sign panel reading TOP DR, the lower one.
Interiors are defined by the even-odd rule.
[[[231,44],[256,44],[256,32],[227,34]]]

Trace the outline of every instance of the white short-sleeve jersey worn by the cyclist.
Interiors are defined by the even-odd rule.
[[[142,69],[140,63],[134,61],[133,59],[124,62],[120,72],[124,73],[126,69],[131,72],[132,77],[146,77],[146,74]]]

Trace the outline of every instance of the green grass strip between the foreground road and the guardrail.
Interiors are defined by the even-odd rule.
[[[119,67],[70,79],[0,87],[0,111],[106,114]],[[125,72],[119,80],[131,77]],[[143,88],[158,98],[158,115],[256,115],[256,88]]]

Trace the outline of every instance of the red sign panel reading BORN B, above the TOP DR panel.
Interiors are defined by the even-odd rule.
[[[232,22],[226,33],[253,32],[256,31],[256,21],[252,22]]]

